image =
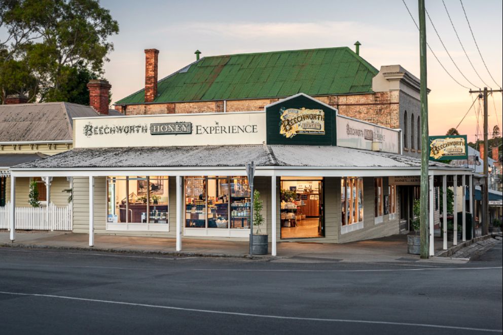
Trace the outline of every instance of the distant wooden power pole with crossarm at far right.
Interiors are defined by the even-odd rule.
[[[492,222],[489,222],[489,160],[487,159],[487,154],[489,152],[489,144],[488,144],[488,122],[487,122],[487,96],[489,92],[492,94],[493,92],[501,92],[499,90],[488,90],[487,87],[484,87],[484,90],[472,91],[470,93],[482,93],[484,99],[484,193],[482,195],[482,235],[489,234],[489,231],[492,233],[493,227]]]

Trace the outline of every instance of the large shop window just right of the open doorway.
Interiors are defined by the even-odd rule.
[[[363,221],[363,178],[341,178],[341,224]]]

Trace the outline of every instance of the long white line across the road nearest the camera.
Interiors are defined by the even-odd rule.
[[[235,316],[244,316],[244,317],[257,317],[257,318],[267,318],[267,319],[283,319],[283,320],[298,320],[298,321],[322,321],[322,322],[345,322],[345,323],[366,323],[366,324],[386,324],[386,325],[397,325],[397,326],[414,326],[414,327],[458,329],[458,330],[471,330],[471,331],[503,332],[503,330],[501,330],[501,329],[487,329],[487,328],[446,326],[446,325],[440,325],[440,324],[411,323],[411,322],[388,322],[388,321],[370,321],[370,320],[349,320],[349,319],[303,318],[303,317],[295,317],[295,316],[281,316],[281,315],[264,315],[264,314],[252,314],[252,313],[225,312],[225,311],[214,311],[214,310],[202,310],[202,309],[196,309],[196,308],[183,308],[183,307],[173,307],[173,306],[163,306],[163,305],[137,304],[137,303],[128,303],[128,302],[111,301],[111,300],[87,299],[87,298],[80,298],[80,297],[75,297],[75,296],[64,296],[64,295],[53,295],[53,294],[19,293],[19,292],[6,292],[6,291],[0,291],[0,294],[11,294],[11,295],[21,295],[21,296],[41,296],[41,297],[48,297],[48,298],[55,298],[55,299],[78,300],[78,301],[87,301],[87,302],[103,303],[103,304],[116,304],[116,305],[126,305],[126,306],[136,306],[136,307],[159,308],[159,309],[176,310],[176,311],[211,313],[211,314],[224,314],[224,315],[235,315]]]

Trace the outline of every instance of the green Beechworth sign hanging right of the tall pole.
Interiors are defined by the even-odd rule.
[[[429,149],[432,161],[468,159],[466,135],[429,136]]]

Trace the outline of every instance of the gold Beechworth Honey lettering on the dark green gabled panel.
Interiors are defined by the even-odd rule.
[[[325,134],[325,112],[321,109],[281,108],[279,113],[279,133],[286,138],[297,134]]]

